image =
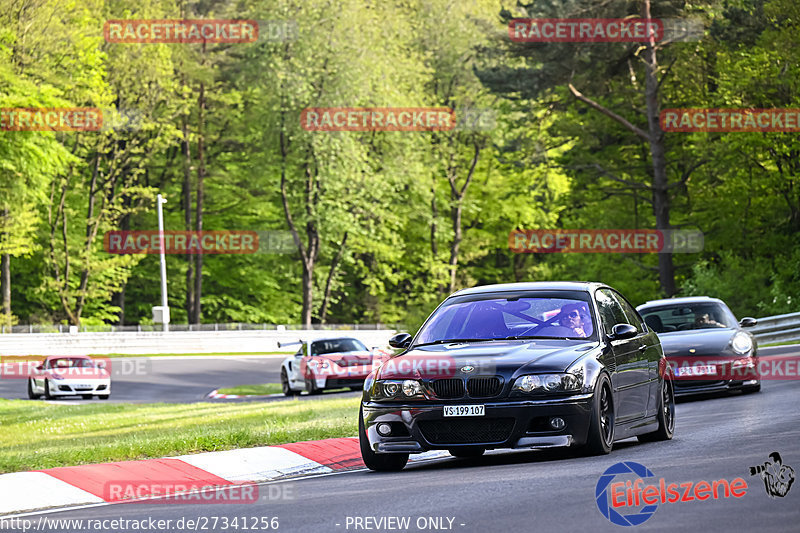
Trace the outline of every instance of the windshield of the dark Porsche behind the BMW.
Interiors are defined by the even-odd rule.
[[[691,329],[731,328],[736,319],[730,311],[717,303],[699,303],[650,307],[640,314],[650,329],[656,333]]]

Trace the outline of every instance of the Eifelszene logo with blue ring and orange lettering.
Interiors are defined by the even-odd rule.
[[[600,513],[618,526],[638,526],[655,514],[660,503],[741,498],[747,493],[747,482],[740,477],[697,483],[667,483],[662,477],[652,485],[645,485],[645,478],[655,478],[655,474],[639,463],[625,461],[610,466],[595,486]]]

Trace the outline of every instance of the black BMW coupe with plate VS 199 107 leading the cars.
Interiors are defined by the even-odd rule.
[[[488,285],[442,302],[364,383],[359,440],[372,470],[434,449],[579,447],[672,438],[674,389],[658,336],[599,283]]]

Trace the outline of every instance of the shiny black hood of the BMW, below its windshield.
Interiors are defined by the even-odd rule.
[[[377,378],[501,375],[510,379],[527,372],[564,372],[576,359],[598,346],[596,341],[538,339],[422,346],[384,361]]]

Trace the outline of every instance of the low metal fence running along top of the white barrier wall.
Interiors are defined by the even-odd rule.
[[[375,331],[384,329],[404,330],[402,324],[170,324],[170,331]],[[117,333],[163,331],[161,324],[145,324],[138,326],[68,326],[68,325],[28,325],[2,326],[0,333]]]

